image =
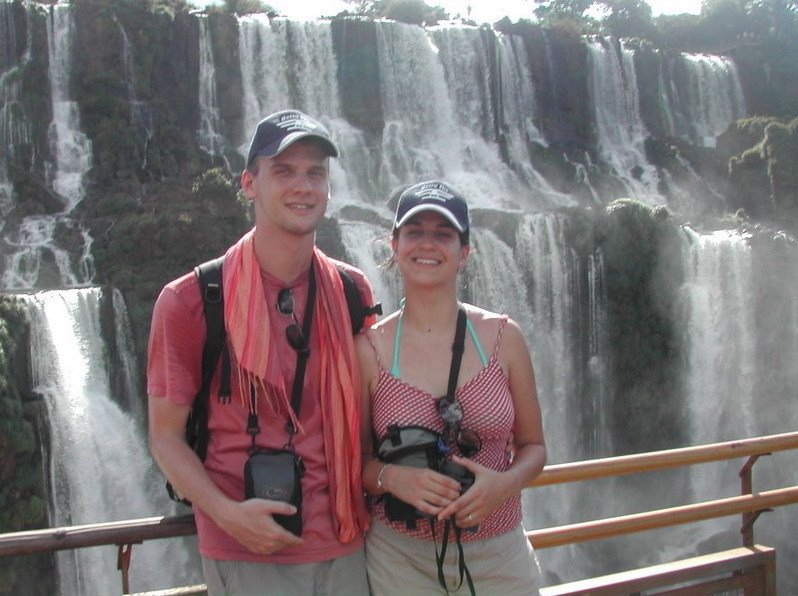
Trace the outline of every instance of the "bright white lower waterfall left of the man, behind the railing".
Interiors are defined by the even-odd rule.
[[[100,299],[97,289],[26,297],[32,385],[50,417],[54,527],[150,517],[173,509],[147,452],[140,410],[134,419],[111,394]],[[131,565],[136,590],[183,585],[188,553],[168,541],[136,546]],[[167,560],[169,565],[164,565]],[[58,582],[62,594],[118,592],[115,549],[59,552]]]

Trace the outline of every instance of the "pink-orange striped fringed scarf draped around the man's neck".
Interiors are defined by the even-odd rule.
[[[253,231],[230,247],[224,262],[224,318],[228,341],[238,363],[240,398],[249,399],[250,383],[275,412],[294,416],[276,358],[270,357],[271,325],[263,294],[260,267],[255,258]],[[318,345],[321,370],[319,392],[324,424],[324,451],[330,481],[330,507],[338,540],[351,542],[368,529],[369,516],[363,500],[360,456],[360,373],[355,355],[349,310],[336,266],[314,248]]]

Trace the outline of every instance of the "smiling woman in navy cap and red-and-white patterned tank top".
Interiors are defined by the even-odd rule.
[[[441,181],[409,187],[399,198],[391,248],[403,305],[356,340],[363,485],[372,497],[372,594],[537,593],[520,497],[546,461],[534,371],[513,320],[457,300],[458,272],[470,250],[464,199]],[[467,332],[457,374],[460,310]],[[453,395],[450,385],[457,387]],[[439,433],[441,461],[472,473],[473,484],[377,459],[375,447],[390,449],[409,427]],[[389,516],[397,499],[418,519]]]

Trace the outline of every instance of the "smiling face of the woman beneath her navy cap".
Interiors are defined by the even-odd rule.
[[[465,264],[469,247],[443,215],[422,211],[408,220],[391,241],[405,281],[433,283],[453,280]]]

